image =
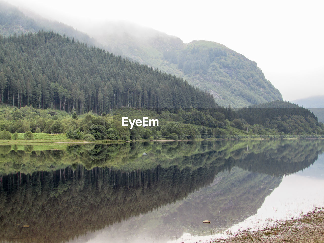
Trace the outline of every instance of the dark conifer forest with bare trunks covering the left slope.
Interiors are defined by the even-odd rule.
[[[77,114],[113,108],[210,108],[186,81],[53,32],[0,37],[0,101]]]

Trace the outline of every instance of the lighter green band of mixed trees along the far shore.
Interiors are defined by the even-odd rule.
[[[0,139],[24,139],[24,134],[17,133],[27,132],[66,133],[68,139],[83,140],[323,136],[323,124],[311,112],[288,102],[279,103],[291,108],[170,109],[159,113],[123,108],[101,116],[92,112],[78,116],[75,112],[71,115],[60,110],[4,105],[0,106]],[[158,119],[159,126],[134,126],[131,130],[122,126],[122,117],[150,117]]]

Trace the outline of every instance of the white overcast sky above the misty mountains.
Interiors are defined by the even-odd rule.
[[[185,43],[215,41],[257,62],[284,100],[324,94],[324,1],[7,2],[81,31],[106,20],[126,20]]]

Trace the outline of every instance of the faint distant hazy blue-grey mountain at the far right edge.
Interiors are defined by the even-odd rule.
[[[313,112],[318,121],[324,122],[324,96],[313,96],[304,99],[295,99],[291,101],[299,106],[303,106]]]

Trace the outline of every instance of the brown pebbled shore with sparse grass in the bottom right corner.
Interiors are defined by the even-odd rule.
[[[324,208],[317,208],[299,219],[279,221],[274,227],[257,231],[243,231],[234,237],[217,238],[211,242],[299,242],[324,243]]]

